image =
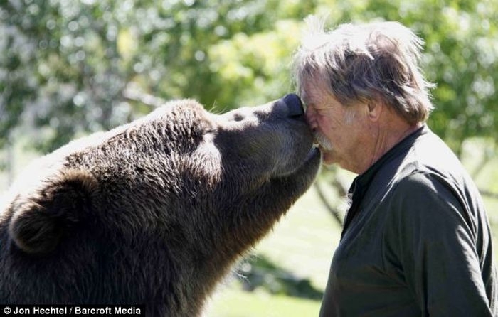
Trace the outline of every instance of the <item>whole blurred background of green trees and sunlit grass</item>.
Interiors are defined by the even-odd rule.
[[[0,192],[32,159],[164,100],[225,112],[292,92],[309,14],[329,27],[400,21],[425,40],[421,66],[438,84],[428,124],[475,179],[498,237],[496,0],[0,0]],[[207,316],[317,316],[352,178],[322,168]]]

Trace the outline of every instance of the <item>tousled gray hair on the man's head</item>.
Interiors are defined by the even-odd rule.
[[[342,24],[324,31],[314,16],[294,56],[294,76],[302,95],[303,83],[323,81],[342,104],[383,102],[407,122],[424,122],[433,104],[418,62],[422,39],[397,22]]]

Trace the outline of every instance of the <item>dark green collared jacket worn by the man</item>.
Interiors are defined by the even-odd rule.
[[[482,198],[428,127],[354,181],[322,303],[329,316],[497,316]]]

